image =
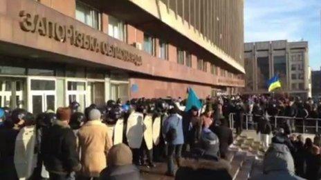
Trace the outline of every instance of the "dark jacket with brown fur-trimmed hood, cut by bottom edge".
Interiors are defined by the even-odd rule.
[[[194,179],[232,179],[229,174],[230,163],[223,159],[211,157],[200,157],[199,159],[181,159],[178,168],[176,180],[194,180]]]

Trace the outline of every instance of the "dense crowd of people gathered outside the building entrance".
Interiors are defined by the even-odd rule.
[[[290,134],[307,117],[319,117],[321,103],[264,96],[208,97],[201,101],[203,108],[183,110],[186,102],[181,99],[141,98],[125,103],[118,99],[107,101],[103,107],[92,104],[84,113],[79,103],[72,102],[66,108],[35,116],[20,108],[0,108],[0,179],[140,179],[138,167],[155,168],[156,161],[167,162],[166,174],[175,179],[232,179],[227,161],[233,142],[228,121],[231,113],[237,134],[244,126],[244,114],[253,114],[250,121],[257,124],[264,146],[269,147],[265,159],[269,159],[267,154],[272,157],[272,161],[264,161],[265,174],[285,167],[287,173],[306,179],[318,176],[320,137],[313,145],[311,139],[304,143],[302,137],[290,139]],[[140,148],[129,145],[126,126],[134,112],[152,116],[153,121],[161,119],[159,143],[152,148],[147,148],[144,140]],[[275,116],[302,119],[282,120],[279,127],[273,127],[269,119]],[[109,127],[119,119],[124,121],[123,139],[116,144],[113,136],[117,134],[110,134]],[[279,132],[270,145],[268,135],[273,130]],[[277,170],[269,167],[282,151],[286,158],[293,157],[293,167],[287,160],[286,166],[281,160],[282,167]]]

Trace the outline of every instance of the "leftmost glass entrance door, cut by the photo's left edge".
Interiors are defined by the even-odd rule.
[[[26,79],[0,77],[0,106],[25,108]]]

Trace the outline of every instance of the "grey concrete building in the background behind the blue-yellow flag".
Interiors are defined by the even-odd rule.
[[[276,92],[311,97],[308,42],[266,41],[245,43],[246,94],[268,93],[267,81],[279,75]]]

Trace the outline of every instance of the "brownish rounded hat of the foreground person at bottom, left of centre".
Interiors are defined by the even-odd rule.
[[[111,147],[107,159],[108,166],[124,166],[132,163],[133,154],[125,143],[118,143]]]

